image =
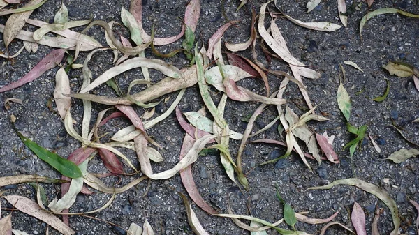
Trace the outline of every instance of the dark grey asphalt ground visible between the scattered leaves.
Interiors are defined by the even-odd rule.
[[[187,1],[148,0],[143,2],[145,2],[143,21],[146,31],[149,32],[152,22],[156,22],[157,36],[174,36],[178,33],[181,22],[177,17],[183,17]],[[66,0],[64,3],[68,7],[70,20],[84,20],[93,17],[96,20],[107,22],[115,20],[121,23],[120,10],[122,6],[129,7],[129,1]],[[196,31],[200,42],[203,40],[207,45],[208,38],[219,26],[226,23],[222,8],[225,9],[230,20],[241,21],[237,27],[228,29],[223,40],[228,42],[247,40],[251,22],[248,6],[254,4],[256,11],[258,11],[263,2],[253,1],[253,3],[248,3],[248,6],[236,13],[235,9],[239,3],[239,1],[224,1],[223,6],[221,6],[219,1],[202,1],[202,12]],[[281,1],[279,6],[288,15],[302,21],[330,21],[340,24],[336,1],[322,1],[320,6],[309,14],[305,13],[304,6],[306,3],[307,1]],[[44,6],[34,11],[31,18],[49,22],[53,19],[60,4],[61,1],[47,1]],[[347,4],[348,6],[351,5],[350,2],[347,2]],[[376,1],[372,9],[397,7],[419,14],[418,4],[417,1],[406,0]],[[270,10],[274,10],[273,5],[270,5]],[[331,190],[304,191],[310,186],[322,185],[336,179],[356,177],[381,186],[389,192],[399,207],[402,221],[401,232],[415,234],[413,224],[416,220],[416,211],[409,204],[409,199],[419,202],[417,174],[419,159],[411,158],[399,165],[383,159],[399,149],[415,147],[407,143],[395,130],[388,128],[392,121],[404,128],[404,132],[409,139],[419,143],[418,124],[411,123],[413,119],[419,116],[419,92],[413,85],[413,79],[390,76],[381,66],[389,61],[405,61],[416,66],[416,68],[419,67],[419,22],[396,14],[374,17],[365,26],[362,33],[362,42],[358,27],[361,17],[367,13],[367,10],[367,5],[362,3],[360,10],[356,10],[349,17],[348,28],[342,28],[332,33],[311,31],[284,19],[277,20],[291,53],[322,74],[322,77],[317,80],[304,79],[304,84],[307,85],[312,102],[316,105],[320,104],[318,110],[329,114],[330,121],[312,122],[309,126],[315,132],[323,133],[327,130],[329,135],[336,135],[335,150],[341,159],[341,163],[334,165],[323,161],[321,165],[317,165],[315,161],[310,160],[310,164],[314,168],[314,173],[311,173],[303,165],[300,158],[293,154],[290,158],[281,160],[277,164],[265,165],[249,172],[247,176],[251,189],[246,192],[239,190],[237,185],[228,179],[218,156],[200,157],[193,165],[193,174],[198,189],[207,202],[226,213],[229,197],[230,205],[235,213],[251,214],[274,222],[282,217],[282,206],[275,197],[275,185],[279,185],[282,197],[293,206],[295,211],[310,211],[310,217],[325,218],[340,210],[335,220],[349,226],[351,225],[350,211],[353,202],[358,202],[365,209],[369,232],[374,217],[374,205],[378,202],[378,206],[383,207],[385,211],[379,220],[379,230],[381,234],[389,234],[392,230],[390,211],[373,195],[348,186],[337,186]],[[6,17],[1,17],[0,22],[3,24],[5,21]],[[24,29],[34,30],[32,26],[25,26]],[[122,33],[124,36],[128,36],[128,30],[122,26],[115,26],[114,29],[117,34]],[[103,45],[106,45],[102,29],[94,27],[89,30],[89,35],[94,35]],[[159,49],[167,49],[167,52],[169,52],[180,47],[181,42],[182,40],[178,40],[177,43],[159,47]],[[0,40],[0,45],[0,49],[4,50],[3,40]],[[10,46],[10,50],[14,52],[20,47],[22,47],[22,41],[16,40]],[[40,46],[35,54],[24,51],[14,60],[13,65],[6,59],[0,59],[0,86],[22,77],[50,51],[50,47],[43,46]],[[248,51],[242,54],[250,58]],[[259,54],[260,59],[265,62],[262,53]],[[81,63],[86,55],[86,53],[82,53],[78,61]],[[146,56],[152,58],[151,52],[147,50]],[[94,71],[94,77],[111,68],[112,65],[108,64],[111,60],[112,54],[110,52],[96,54],[90,63],[91,69]],[[358,63],[358,66],[365,71],[365,73],[361,73],[351,66],[345,66],[347,77],[345,87],[351,96],[353,105],[351,122],[356,126],[368,125],[368,134],[378,140],[382,150],[381,153],[374,150],[369,139],[365,139],[362,147],[355,152],[353,158],[348,158],[348,151],[341,151],[344,144],[353,137],[346,131],[344,116],[341,115],[336,100],[337,86],[339,85],[339,63],[346,60]],[[166,61],[178,68],[186,66],[186,59],[182,56],[175,56],[172,59],[166,59]],[[272,61],[271,68],[286,71],[286,65],[277,60]],[[59,177],[54,169],[24,148],[10,126],[9,116],[11,114],[17,117],[16,127],[24,135],[31,137],[47,149],[57,151],[61,156],[68,156],[71,151],[80,147],[78,141],[67,135],[59,115],[50,112],[45,105],[47,100],[53,99],[54,76],[57,70],[58,68],[54,68],[30,84],[0,94],[1,104],[9,97],[20,98],[24,102],[24,105],[12,105],[8,111],[0,107],[0,176],[40,174]],[[131,70],[117,77],[123,91],[126,91],[132,79],[141,77],[140,73],[139,69]],[[80,79],[81,70],[71,70],[69,75],[72,91],[77,92],[82,84],[82,79]],[[152,75],[153,79],[161,78],[159,73],[152,73]],[[278,79],[273,76],[269,78],[272,90],[276,90],[279,86]],[[390,80],[390,93],[384,102],[376,103],[371,98],[382,95],[385,90],[384,78]],[[255,92],[261,94],[265,92],[263,82],[259,80],[247,79],[241,84]],[[100,86],[94,91],[103,95],[115,96],[112,90],[106,86]],[[197,111],[200,107],[203,107],[203,102],[197,91],[197,86],[193,86],[186,91],[186,95],[180,103],[182,111]],[[358,91],[363,92],[358,94]],[[213,94],[214,99],[221,97],[220,94]],[[158,106],[155,116],[168,109],[172,100],[175,99],[176,93],[167,97],[170,100],[168,103]],[[300,91],[297,90],[297,86],[291,84],[284,94],[284,98],[290,101],[289,105],[293,107],[297,114],[304,113],[304,110],[298,109],[300,104],[302,104],[302,107],[306,106]],[[246,123],[241,119],[252,114],[256,107],[258,107],[257,103],[238,103],[228,100],[225,117],[230,129],[243,132]],[[94,115],[105,108],[103,105],[94,104]],[[138,114],[144,112],[144,109],[141,108],[136,108],[136,110]],[[80,100],[72,99],[72,114],[73,119],[77,121],[75,126],[80,131],[82,121],[82,102]],[[253,130],[265,126],[276,115],[276,109],[270,107],[258,118]],[[115,132],[120,124],[128,125],[122,119],[115,119],[105,126],[103,133]],[[276,127],[277,125],[267,130],[264,134],[265,137],[281,139],[282,137],[278,135]],[[165,158],[164,162],[153,164],[154,171],[161,172],[164,169],[171,168],[179,159],[180,146],[184,136],[184,132],[177,124],[175,115],[172,114],[170,118],[156,125],[148,133],[163,146],[160,152]],[[239,144],[240,142],[230,141],[230,151],[233,157],[237,154]],[[275,156],[281,156],[285,151],[286,149],[282,147],[270,144],[247,144],[243,156],[244,172],[248,172],[253,165]],[[135,153],[132,151],[125,151],[125,153],[133,162],[136,162],[135,167],[138,167]],[[98,158],[89,162],[88,170],[89,172],[106,172],[103,163]],[[135,178],[138,178],[138,176],[124,177],[121,185]],[[389,179],[388,183],[385,183],[385,179]],[[116,181],[116,177],[109,177],[105,180],[109,185]],[[131,222],[142,225],[146,217],[156,234],[193,234],[187,222],[182,199],[175,193],[175,190],[184,192],[179,174],[168,180],[152,181],[147,194],[144,195],[146,186],[147,181],[144,181],[135,188],[117,195],[115,202],[108,209],[93,216],[108,220],[126,229]],[[44,185],[44,187],[49,199],[53,199],[59,193],[58,185]],[[13,185],[8,187],[8,190],[8,194],[24,195],[34,199],[35,192],[27,184]],[[110,195],[103,193],[90,196],[79,195],[71,211],[91,211],[102,206],[108,201],[109,197]],[[10,204],[6,204],[3,199],[1,199],[1,202],[2,207],[10,207]],[[203,227],[210,234],[249,234],[235,226],[231,220],[208,215],[196,206],[193,206],[193,209],[196,211]],[[2,214],[5,215],[6,212]],[[73,216],[70,218],[70,222],[71,227],[78,234],[119,234],[110,225],[89,218]],[[286,226],[282,225],[282,227]],[[13,228],[23,230],[28,234],[44,234],[46,225],[39,220],[15,212],[13,213]],[[296,228],[310,234],[318,234],[321,225],[307,225],[297,222]],[[268,234],[275,233],[271,230],[268,231]],[[57,234],[57,232],[53,231],[50,234]],[[332,228],[328,234],[346,234],[346,232]]]

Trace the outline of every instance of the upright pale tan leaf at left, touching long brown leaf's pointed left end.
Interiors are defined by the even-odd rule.
[[[59,116],[64,119],[67,110],[71,107],[71,98],[63,94],[70,93],[70,82],[64,67],[60,68],[55,75],[54,100],[57,105]]]

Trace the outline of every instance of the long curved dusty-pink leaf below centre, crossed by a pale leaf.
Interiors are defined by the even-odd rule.
[[[186,153],[192,148],[193,144],[195,143],[195,139],[190,135],[186,134],[183,140],[182,148],[180,149],[179,160],[182,160]],[[196,184],[193,181],[192,175],[192,165],[189,165],[184,170],[180,171],[180,178],[182,179],[182,183],[189,194],[189,197],[199,206],[201,209],[206,211],[210,214],[218,213],[216,210],[212,208],[212,206],[208,205],[207,202],[201,197],[198,188],[196,188]]]

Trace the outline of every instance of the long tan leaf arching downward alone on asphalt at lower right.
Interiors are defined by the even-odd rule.
[[[352,185],[356,186],[366,192],[371,193],[372,195],[375,195],[380,199],[386,206],[388,206],[388,209],[391,211],[393,225],[395,225],[395,228],[392,230],[390,235],[397,235],[399,234],[399,227],[400,227],[400,218],[399,218],[399,210],[397,209],[397,204],[395,201],[388,195],[388,192],[385,192],[385,190],[378,188],[376,185],[372,183],[367,183],[365,181],[362,181],[360,179],[339,179],[337,181],[333,181],[332,183],[329,183],[328,185],[318,186],[318,187],[311,187],[307,188],[307,190],[323,190],[323,189],[330,189],[335,185]]]

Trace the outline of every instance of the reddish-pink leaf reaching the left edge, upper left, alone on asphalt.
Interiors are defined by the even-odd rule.
[[[15,89],[19,86],[27,84],[28,82],[34,81],[34,79],[40,77],[45,73],[47,70],[54,68],[61,62],[64,57],[64,53],[66,52],[65,49],[57,49],[47,54],[44,59],[39,61],[38,64],[34,68],[32,68],[27,75],[24,75],[21,79],[13,82],[12,84],[8,84],[7,86],[3,86],[0,88],[0,93],[4,91],[10,91],[11,89]]]

